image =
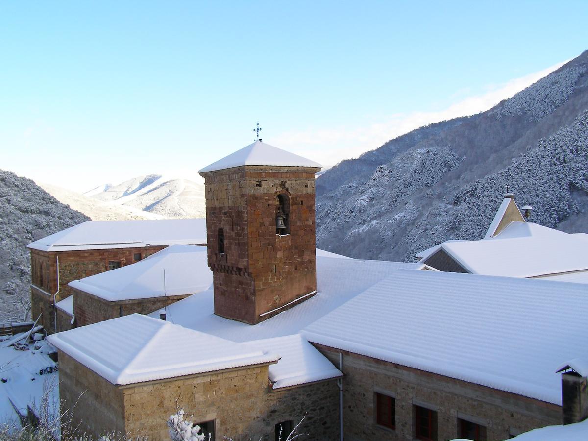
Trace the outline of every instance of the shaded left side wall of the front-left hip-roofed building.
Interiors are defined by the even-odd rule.
[[[79,433],[92,433],[96,439],[103,433],[125,433],[123,391],[61,350],[59,398]]]

